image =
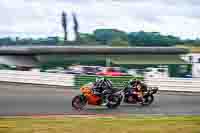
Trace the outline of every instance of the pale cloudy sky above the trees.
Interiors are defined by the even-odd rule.
[[[70,40],[72,12],[84,33],[116,28],[200,38],[200,0],[0,0],[0,37],[62,37],[62,11]]]

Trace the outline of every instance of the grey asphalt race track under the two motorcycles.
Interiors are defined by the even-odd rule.
[[[0,82],[0,116],[46,115],[46,114],[155,114],[199,115],[200,95],[155,94],[150,106],[122,104],[117,109],[87,106],[76,111],[71,106],[72,97],[79,90],[67,87],[16,84]]]

